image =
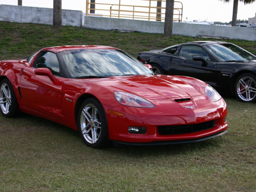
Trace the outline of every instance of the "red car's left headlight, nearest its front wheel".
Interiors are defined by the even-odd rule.
[[[143,99],[139,96],[126,93],[126,92],[120,92],[116,91],[114,92],[114,96],[120,104],[130,106],[130,107],[141,107],[141,108],[154,108],[155,106],[147,101],[146,99]]]

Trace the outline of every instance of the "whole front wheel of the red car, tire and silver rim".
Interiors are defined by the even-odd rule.
[[[108,124],[100,102],[95,98],[86,99],[78,113],[78,130],[87,146],[101,148],[108,143]]]

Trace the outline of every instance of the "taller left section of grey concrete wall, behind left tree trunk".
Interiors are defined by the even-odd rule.
[[[53,9],[0,5],[0,21],[52,25]],[[82,26],[82,11],[62,10],[62,25]]]

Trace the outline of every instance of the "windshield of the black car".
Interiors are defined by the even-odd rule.
[[[206,47],[220,62],[256,60],[256,56],[234,44],[210,44]]]

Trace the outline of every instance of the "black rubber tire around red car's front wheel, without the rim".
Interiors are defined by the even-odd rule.
[[[87,104],[93,104],[97,108],[99,115],[100,115],[100,120],[101,120],[100,137],[94,144],[91,144],[86,141],[86,139],[84,138],[84,136],[82,134],[81,125],[80,125],[80,118],[81,118],[82,110],[83,110],[84,106],[86,106]],[[104,108],[102,107],[102,105],[100,104],[100,102],[97,99],[88,98],[88,99],[84,100],[84,102],[82,103],[82,105],[80,107],[79,113],[78,113],[77,126],[78,126],[78,131],[80,133],[80,136],[82,137],[82,140],[84,141],[84,143],[87,146],[90,146],[92,148],[102,148],[107,145],[108,124],[107,124],[106,114],[105,114]]]

